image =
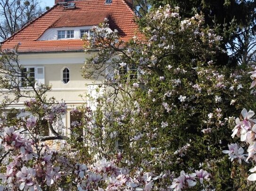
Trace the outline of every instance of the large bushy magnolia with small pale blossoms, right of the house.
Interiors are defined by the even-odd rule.
[[[121,152],[123,165],[157,176],[156,190],[254,189],[244,150],[231,145],[231,162],[222,152],[232,142],[234,116],[255,109],[253,67],[218,63],[222,38],[200,15],[182,20],[178,8],[167,6],[139,24],[130,42],[108,32],[107,21],[87,38],[86,49],[99,53],[85,62],[83,75],[103,75],[108,87],[86,124],[90,153]],[[199,168],[201,181],[194,178]]]

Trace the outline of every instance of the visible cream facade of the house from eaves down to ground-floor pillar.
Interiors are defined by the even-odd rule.
[[[71,109],[85,103],[88,104],[80,95],[90,93],[92,97],[98,96],[95,89],[98,87],[97,84],[102,83],[101,80],[84,79],[81,74],[81,68],[84,65],[86,57],[90,57],[92,54],[82,51],[19,54],[19,63],[24,68],[43,69],[41,83],[52,86],[51,91],[46,93],[47,97],[54,97],[57,101],[63,100],[66,102],[68,107],[67,114],[66,116],[62,116],[61,120],[65,126],[65,130],[63,131],[66,136],[70,135]],[[66,84],[62,79],[63,69],[65,68],[69,69],[69,81]],[[7,92],[7,90],[1,91]],[[27,98],[22,98],[18,103],[12,104],[11,107],[17,109],[24,108],[25,100]]]

